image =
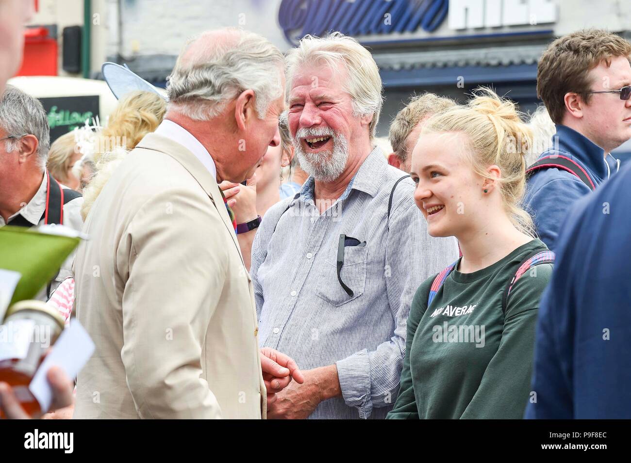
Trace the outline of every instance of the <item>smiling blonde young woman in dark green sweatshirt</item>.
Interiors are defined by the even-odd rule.
[[[463,256],[416,291],[388,418],[522,418],[553,260],[520,207],[530,141],[514,105],[487,89],[423,127],[416,205],[429,234],[457,237]]]

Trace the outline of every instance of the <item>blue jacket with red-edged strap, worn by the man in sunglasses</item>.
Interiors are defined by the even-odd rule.
[[[620,162],[617,159],[608,154],[605,161],[601,147],[565,125],[557,125],[557,134],[552,142],[553,146],[544,151],[540,158],[555,154],[569,157],[586,170],[596,186],[618,170]],[[563,219],[572,205],[589,192],[587,185],[563,169],[541,169],[531,175],[526,185],[524,204],[533,217],[541,241],[548,248],[555,250]]]

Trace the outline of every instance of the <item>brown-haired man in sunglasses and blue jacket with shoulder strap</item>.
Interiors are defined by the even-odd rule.
[[[537,92],[557,133],[528,169],[525,202],[555,248],[570,207],[618,171],[611,151],[631,138],[631,44],[604,30],[558,38],[539,60]]]

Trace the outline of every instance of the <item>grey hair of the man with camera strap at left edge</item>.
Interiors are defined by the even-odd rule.
[[[0,127],[9,137],[35,135],[38,141],[37,160],[42,170],[45,169],[50,148],[50,129],[44,106],[37,98],[8,85],[0,100]],[[6,140],[6,151],[12,152],[18,147],[18,140]]]

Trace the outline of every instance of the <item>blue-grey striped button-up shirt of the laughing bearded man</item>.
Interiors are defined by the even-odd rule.
[[[458,256],[456,239],[433,238],[416,208],[414,183],[379,148],[324,213],[309,178],[265,214],[252,244],[252,281],[261,347],[293,358],[300,369],[336,363],[342,397],[309,418],[385,418],[399,390],[406,321],[416,288]],[[339,235],[347,246],[341,280]]]

